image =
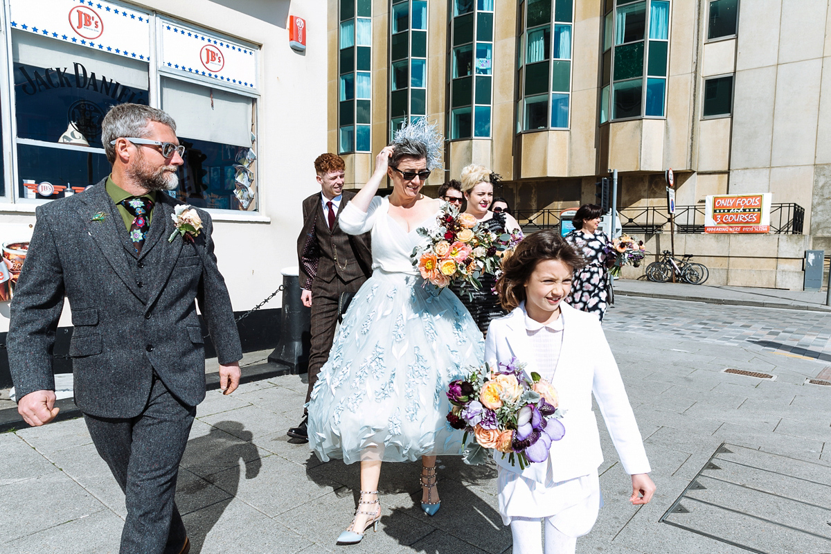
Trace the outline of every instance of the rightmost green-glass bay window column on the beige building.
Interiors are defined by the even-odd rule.
[[[613,120],[664,117],[670,2],[617,0],[613,9],[611,3],[603,33],[601,123],[609,119],[609,101]]]

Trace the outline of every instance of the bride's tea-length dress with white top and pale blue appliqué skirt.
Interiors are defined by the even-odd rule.
[[[445,391],[484,358],[470,313],[450,290],[438,292],[413,266],[424,238],[406,233],[372,199],[366,213],[348,203],[340,227],[371,230],[372,276],[349,305],[308,404],[309,446],[322,461],[415,461],[461,454],[462,432],[446,415]],[[435,224],[435,215],[420,226]]]

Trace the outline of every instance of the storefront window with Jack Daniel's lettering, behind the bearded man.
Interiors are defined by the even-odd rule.
[[[18,197],[62,198],[105,178],[101,120],[112,105],[148,103],[147,64],[21,31],[12,61]]]

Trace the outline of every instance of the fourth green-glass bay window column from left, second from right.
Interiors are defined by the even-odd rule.
[[[568,128],[573,12],[573,0],[527,2],[523,130]]]

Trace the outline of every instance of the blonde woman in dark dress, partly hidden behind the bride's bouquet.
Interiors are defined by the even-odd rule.
[[[461,182],[462,194],[467,201],[465,213],[474,216],[479,225],[484,225],[491,233],[500,235],[519,229],[519,223],[509,213],[494,213],[489,209],[494,201],[494,182],[498,178],[499,176],[491,173],[490,169],[472,164],[462,169]],[[478,291],[470,285],[460,287],[456,283],[450,285],[450,290],[456,293],[470,311],[470,315],[479,326],[479,331],[484,335],[488,331],[490,320],[504,316],[505,312],[499,307],[499,297],[494,291],[496,277],[483,273],[479,277],[479,282],[482,288]]]

